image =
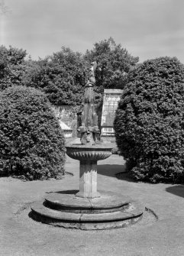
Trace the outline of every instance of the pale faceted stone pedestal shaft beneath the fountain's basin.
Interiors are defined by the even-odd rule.
[[[97,192],[97,160],[81,160],[79,177],[79,193],[76,196],[95,198]]]

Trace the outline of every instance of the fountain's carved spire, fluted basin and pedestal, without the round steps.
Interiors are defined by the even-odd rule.
[[[97,161],[111,155],[112,144],[102,144],[98,141],[98,115],[95,112],[95,70],[96,61],[92,61],[87,73],[85,85],[81,125],[78,128],[81,134],[81,144],[66,146],[66,154],[80,161],[80,185],[76,196],[95,198],[97,191]],[[97,142],[98,141],[98,142]]]

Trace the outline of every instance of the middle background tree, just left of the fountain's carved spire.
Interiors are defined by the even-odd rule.
[[[30,67],[29,84],[41,89],[53,105],[79,105],[82,101],[82,55],[69,48],[53,53]],[[32,69],[34,68],[34,72]]]

